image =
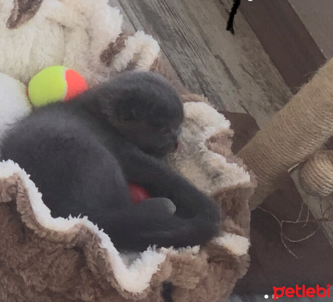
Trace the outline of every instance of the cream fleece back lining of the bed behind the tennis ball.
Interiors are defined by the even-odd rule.
[[[140,31],[123,41],[111,63],[101,59],[121,26],[119,10],[107,0],[0,0],[0,72],[27,84],[41,69],[64,65],[92,87],[129,63],[149,69],[160,47]]]

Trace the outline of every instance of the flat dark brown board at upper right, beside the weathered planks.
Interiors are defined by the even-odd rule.
[[[325,57],[291,4],[281,0],[243,1],[240,11],[296,93]],[[235,22],[239,23],[238,15]]]

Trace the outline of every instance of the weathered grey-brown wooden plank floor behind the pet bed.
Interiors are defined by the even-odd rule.
[[[109,3],[122,11],[125,29],[153,35],[183,84],[206,95],[218,108],[248,112],[261,127],[289,101],[289,88],[241,13],[236,16],[236,35],[225,30],[232,0]],[[270,300],[272,296],[265,299],[263,294],[230,298],[230,302]],[[315,298],[279,301],[319,302]]]

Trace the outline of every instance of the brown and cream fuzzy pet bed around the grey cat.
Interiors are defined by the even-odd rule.
[[[249,264],[247,200],[254,187],[231,152],[229,122],[182,87],[151,36],[123,33],[122,16],[106,1],[0,6],[0,140],[31,111],[24,84],[44,67],[73,68],[90,87],[125,69],[160,72],[182,95],[185,112],[182,151],[166,161],[227,214],[219,237],[205,246],[120,253],[87,217],[52,218],[26,172],[0,162],[0,300],[159,302],[164,283],[172,284],[174,301],[226,300]]]

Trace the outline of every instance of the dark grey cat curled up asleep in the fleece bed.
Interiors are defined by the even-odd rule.
[[[160,160],[177,148],[182,121],[165,79],[126,72],[70,102],[35,109],[0,149],[31,175],[53,217],[87,215],[118,249],[194,246],[217,235],[220,212]],[[153,198],[132,204],[128,183]]]

